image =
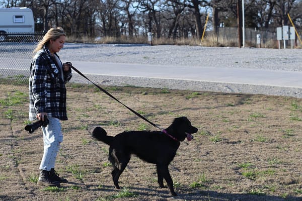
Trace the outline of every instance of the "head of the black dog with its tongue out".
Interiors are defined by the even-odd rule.
[[[175,118],[173,123],[167,128],[167,131],[177,138],[179,141],[188,141],[193,139],[193,133],[197,133],[198,129],[191,125],[191,122],[186,117]]]

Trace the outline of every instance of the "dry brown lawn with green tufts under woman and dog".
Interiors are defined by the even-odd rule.
[[[68,121],[56,170],[69,183],[36,184],[41,129],[28,123],[27,86],[0,85],[0,200],[302,200],[302,99],[139,87],[105,87],[160,127],[186,116],[199,131],[169,169],[178,196],[159,188],[155,165],[133,156],[114,188],[108,145],[91,138],[158,130],[92,85],[67,84]]]

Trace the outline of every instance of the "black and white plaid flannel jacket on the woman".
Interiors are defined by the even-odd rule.
[[[61,63],[62,65],[62,63]],[[46,46],[34,56],[29,77],[29,120],[36,120],[37,113],[67,120],[65,83],[72,76],[71,69],[63,71]]]

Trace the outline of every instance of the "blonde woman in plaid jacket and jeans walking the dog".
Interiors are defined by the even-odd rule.
[[[64,30],[50,29],[34,50],[35,56],[30,66],[29,78],[29,120],[44,121],[49,124],[43,131],[44,153],[40,164],[39,185],[60,186],[61,179],[54,170],[56,155],[63,140],[59,120],[67,120],[65,83],[72,74],[68,64],[62,64],[57,52],[65,42]]]

